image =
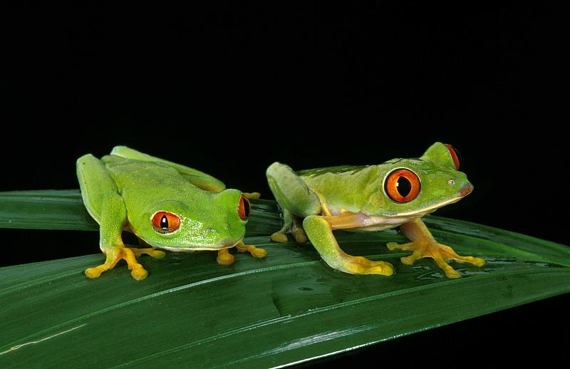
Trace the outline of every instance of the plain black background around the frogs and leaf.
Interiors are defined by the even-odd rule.
[[[475,191],[437,215],[570,244],[548,10],[27,4],[4,13],[0,190],[77,188],[77,157],[128,145],[271,198],[264,170],[276,160],[375,164],[442,141],[462,152]],[[1,265],[98,251],[95,232],[0,234]],[[549,298],[311,365],[557,362],[569,356],[568,306]]]

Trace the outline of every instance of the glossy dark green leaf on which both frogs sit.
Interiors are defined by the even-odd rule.
[[[0,209],[1,227],[96,229],[77,191],[4,193]],[[427,259],[401,264],[406,254],[385,247],[404,241],[393,230],[336,232],[349,254],[396,271],[343,274],[309,243],[268,241],[280,221],[265,200],[252,202],[246,239],[267,249],[265,259],[236,254],[226,267],[210,251],[142,256],[149,276],[139,282],[124,264],[87,279],[83,270],[103,254],[0,268],[0,367],[286,365],[570,291],[567,246],[424,219],[438,241],[487,264],[456,264],[462,278],[447,279]]]

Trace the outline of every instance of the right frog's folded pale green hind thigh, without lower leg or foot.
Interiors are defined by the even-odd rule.
[[[318,196],[288,165],[274,162],[266,170],[267,182],[277,202],[296,217],[321,212]]]

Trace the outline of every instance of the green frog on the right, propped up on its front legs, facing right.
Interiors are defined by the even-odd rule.
[[[460,172],[460,155],[450,144],[435,142],[416,158],[397,158],[380,165],[341,165],[294,171],[274,162],[266,177],[283,216],[283,227],[271,240],[296,242],[308,239],[328,266],[348,274],[390,276],[394,267],[346,254],[333,231],[378,232],[400,227],[410,239],[405,244],[389,242],[389,250],[411,251],[400,261],[413,265],[431,258],[448,278],[461,274],[448,261],[484,266],[475,256],[460,256],[440,244],[422,220],[441,207],[460,201],[474,186]]]

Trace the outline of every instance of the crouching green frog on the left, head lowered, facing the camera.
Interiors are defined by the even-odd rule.
[[[136,259],[160,259],[165,251],[217,251],[217,263],[229,266],[229,249],[266,256],[265,249],[244,244],[251,212],[249,199],[259,192],[227,189],[211,175],[126,146],[115,146],[98,159],[86,154],[76,161],[83,204],[99,225],[99,246],[105,262],[85,270],[90,279],[125,260],[133,279],[148,271]],[[123,242],[123,232],[142,247]]]

